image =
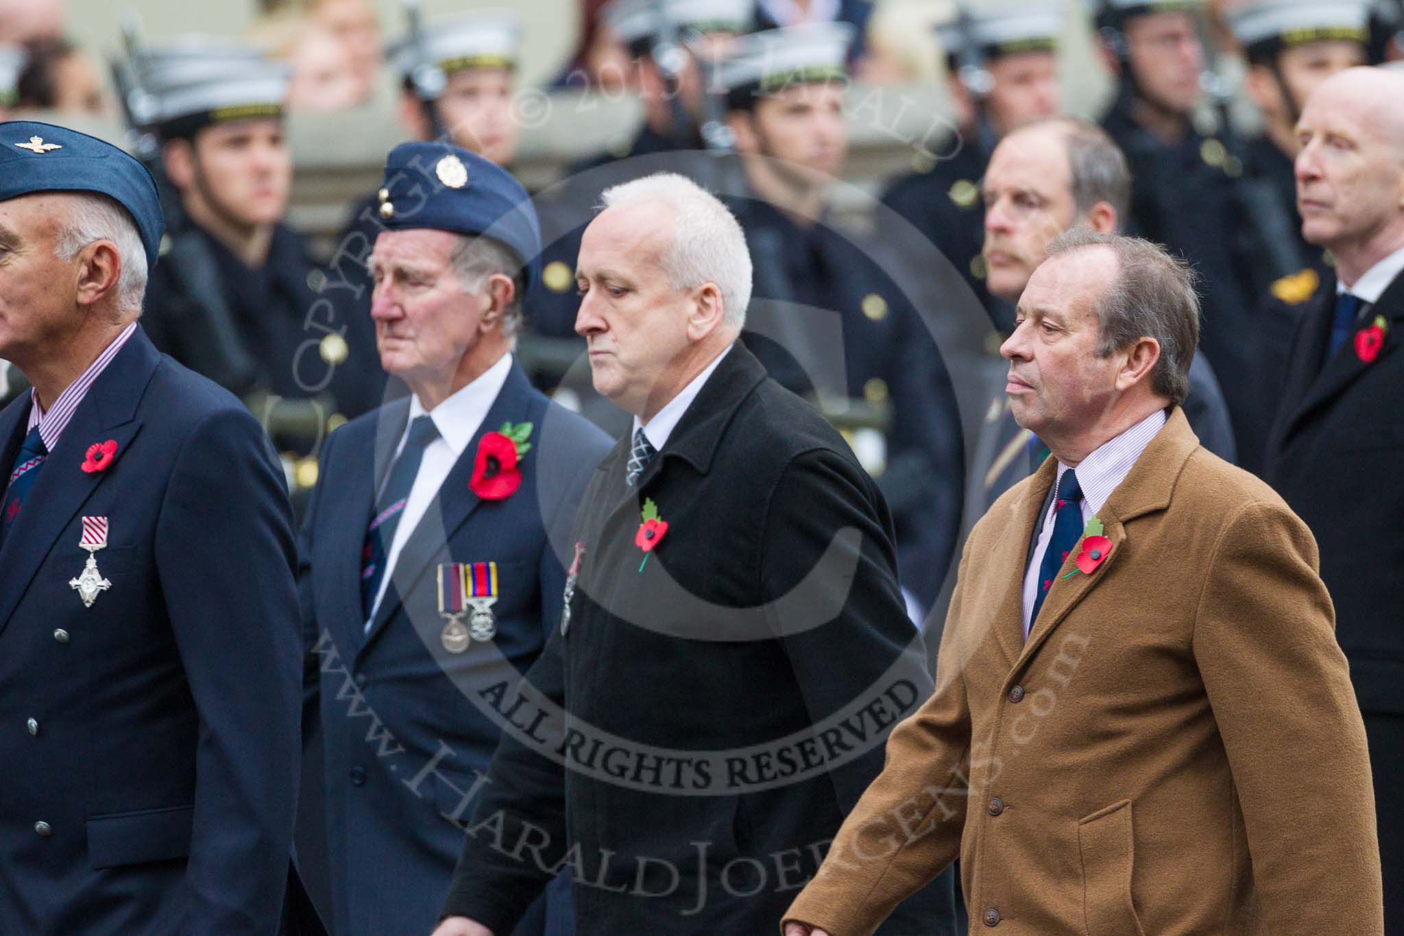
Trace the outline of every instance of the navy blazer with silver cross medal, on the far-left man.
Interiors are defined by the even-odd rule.
[[[4,464],[29,406],[0,414]],[[80,470],[107,439],[111,464]],[[83,516],[110,523],[95,560],[111,587],[91,608],[69,585]],[[277,932],[299,762],[293,567],[258,422],[138,328],[0,547],[0,930]]]

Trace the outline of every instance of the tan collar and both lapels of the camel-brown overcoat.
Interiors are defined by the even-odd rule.
[[[1105,528],[1102,535],[1112,540],[1111,553],[1091,575],[1078,573],[1063,578],[1070,568],[1074,568],[1071,566],[1073,557],[1068,557],[1047,598],[1045,598],[1043,608],[1039,610],[1039,617],[1033,622],[1026,641],[1024,640],[1024,573],[1028,566],[1028,543],[1040,519],[1049,488],[1053,487],[1057,459],[1045,459],[1039,470],[1021,484],[1019,495],[1011,505],[1011,522],[1007,523],[1004,536],[993,550],[993,556],[1000,559],[994,568],[1018,570],[1016,574],[1009,575],[995,619],[997,637],[1009,660],[1015,661],[1011,678],[1038,653],[1043,641],[1057,630],[1068,613],[1106,578],[1125,550],[1126,525],[1136,518],[1170,507],[1181,472],[1198,448],[1199,439],[1189,428],[1185,411],[1175,407],[1164,428],[1155,434],[1146,450],[1136,459],[1130,473],[1106,498],[1102,509],[1097,512]]]

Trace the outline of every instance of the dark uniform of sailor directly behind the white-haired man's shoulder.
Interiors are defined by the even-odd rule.
[[[955,389],[921,314],[870,253],[820,222],[730,199],[755,264],[746,344],[802,396],[886,407],[886,457],[870,470],[892,507],[901,584],[929,609],[955,553],[965,449]],[[842,348],[842,358],[833,352]]]

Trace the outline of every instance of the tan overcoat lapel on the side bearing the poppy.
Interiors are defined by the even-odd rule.
[[[1198,448],[1199,439],[1195,438],[1193,431],[1189,428],[1185,411],[1175,407],[1165,427],[1155,434],[1155,438],[1150,441],[1146,450],[1136,459],[1136,464],[1132,466],[1126,479],[1116,486],[1112,495],[1106,498],[1102,509],[1097,511],[1097,518],[1102,521],[1105,528],[1102,535],[1112,540],[1111,551],[1090,575],[1082,571],[1068,575],[1068,573],[1077,570],[1075,559],[1078,550],[1074,549],[1068,554],[1067,561],[1063,563],[1063,567],[1057,573],[1057,578],[1053,580],[1053,587],[1049,589],[1047,598],[1043,599],[1043,608],[1039,609],[1038,619],[1032,623],[1029,639],[1024,646],[1022,654],[1018,657],[1015,671],[1022,669],[1082,599],[1106,580],[1122,553],[1126,551],[1126,523],[1137,516],[1170,507],[1175,481],[1179,479],[1185,462]],[[1049,460],[1052,462],[1052,459]],[[1046,467],[1047,464],[1045,464]]]

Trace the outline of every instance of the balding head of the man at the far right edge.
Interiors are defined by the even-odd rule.
[[[1327,80],[1297,121],[1302,234],[1328,247],[1341,281],[1404,247],[1404,74],[1349,69]]]

